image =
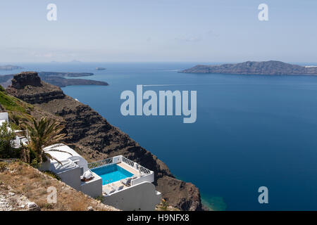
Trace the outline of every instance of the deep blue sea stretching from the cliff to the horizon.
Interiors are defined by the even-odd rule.
[[[317,210],[317,77],[177,72],[197,64],[203,63],[19,65],[94,72],[86,78],[108,82],[63,91],[128,133],[179,179],[198,186],[214,210]],[[182,116],[124,117],[120,94],[136,93],[137,84],[182,84],[144,91],[197,91],[197,122],[184,124]],[[258,202],[260,186],[268,187],[268,204]]]

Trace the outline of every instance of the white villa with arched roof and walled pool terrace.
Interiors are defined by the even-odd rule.
[[[44,162],[40,169],[54,172],[63,182],[93,198],[103,196],[106,205],[120,210],[154,210],[161,202],[161,193],[152,184],[154,172],[122,155],[87,163],[63,144],[49,146],[44,151],[56,160]],[[92,172],[92,179],[81,181],[86,171]]]

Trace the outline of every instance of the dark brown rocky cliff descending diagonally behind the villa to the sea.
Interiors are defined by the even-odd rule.
[[[30,77],[34,85],[25,83],[25,76]],[[163,193],[169,205],[180,210],[201,210],[200,193],[196,186],[175,179],[161,160],[109,124],[88,105],[66,96],[56,86],[42,81],[39,84],[36,72],[20,73],[13,80],[7,89],[8,94],[32,104],[35,109],[61,118],[66,124],[66,142],[73,143],[73,148],[88,161],[124,155],[155,172],[156,188]]]

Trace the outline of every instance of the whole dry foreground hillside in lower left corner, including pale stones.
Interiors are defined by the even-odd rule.
[[[56,188],[56,204],[47,188]],[[118,211],[23,162],[0,162],[0,211]]]

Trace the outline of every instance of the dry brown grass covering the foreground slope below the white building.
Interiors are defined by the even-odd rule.
[[[80,191],[76,191],[65,183],[52,178],[25,163],[11,162],[7,169],[0,172],[0,189],[11,186],[15,193],[25,195],[37,203],[41,210],[84,211],[92,206],[94,210],[112,211],[113,207],[104,205]],[[54,186],[57,191],[57,203],[47,203],[47,188]]]

